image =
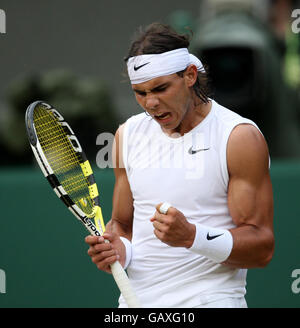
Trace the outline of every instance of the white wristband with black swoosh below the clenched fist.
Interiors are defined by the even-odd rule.
[[[233,238],[229,230],[195,224],[195,240],[190,251],[206,256],[217,262],[224,262],[233,247]]]

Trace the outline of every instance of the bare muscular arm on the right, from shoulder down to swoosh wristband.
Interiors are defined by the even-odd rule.
[[[263,267],[274,250],[273,194],[266,142],[252,125],[239,125],[227,147],[228,206],[236,228],[233,249],[225,264]]]

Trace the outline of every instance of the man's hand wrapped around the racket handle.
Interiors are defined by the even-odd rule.
[[[124,266],[126,250],[118,235],[105,232],[101,237],[87,236],[85,242],[90,246],[87,253],[99,270],[111,273],[110,265],[116,261]]]

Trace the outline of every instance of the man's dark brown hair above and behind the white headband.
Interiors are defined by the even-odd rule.
[[[168,25],[152,23],[145,29],[139,28],[124,60],[127,62],[130,57],[134,56],[161,54],[179,48],[188,48],[189,45],[189,35],[178,34]],[[207,68],[205,70],[207,71]],[[177,74],[182,77],[183,72],[177,72]],[[208,98],[211,95],[211,91],[206,72],[198,72],[198,78],[193,89],[204,103],[209,101]]]

